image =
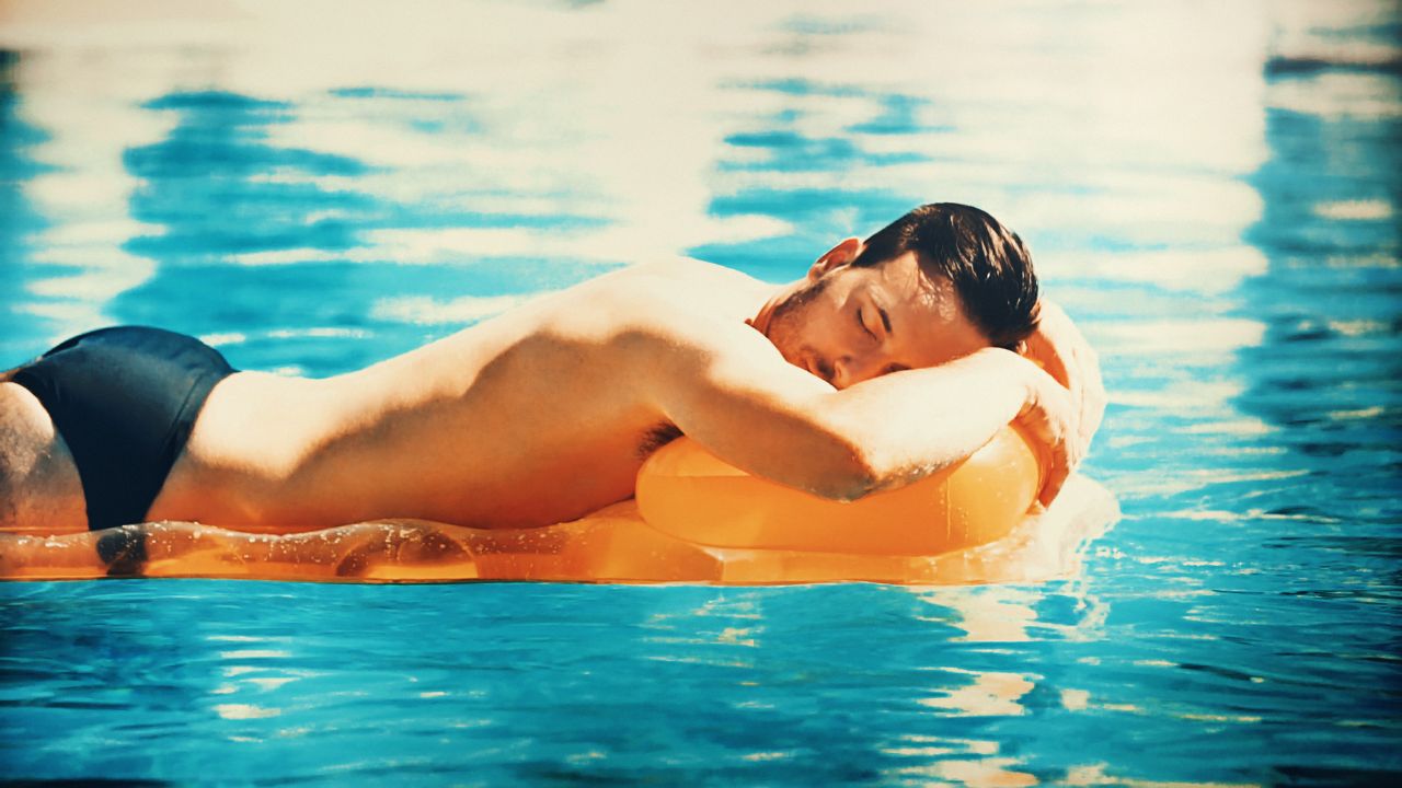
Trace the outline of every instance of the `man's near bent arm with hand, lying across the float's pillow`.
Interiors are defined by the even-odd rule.
[[[756,475],[850,501],[910,484],[1019,419],[1052,450],[1043,502],[1070,454],[1070,402],[1036,365],[986,349],[837,391],[750,328],[707,345],[659,342],[639,369],[656,405],[693,439]]]

